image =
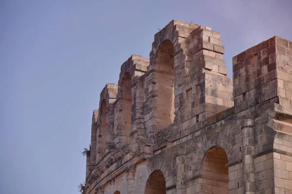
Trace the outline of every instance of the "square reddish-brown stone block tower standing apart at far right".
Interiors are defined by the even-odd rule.
[[[233,85],[240,109],[271,100],[292,113],[292,42],[274,36],[233,57]]]

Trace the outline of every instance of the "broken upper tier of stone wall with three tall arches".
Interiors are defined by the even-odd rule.
[[[147,138],[160,129],[177,132],[232,106],[221,45],[218,32],[178,20],[155,34],[150,60],[132,55],[121,66],[118,85],[101,92],[91,163],[103,165],[110,149],[125,146],[132,157],[148,153],[154,139]]]

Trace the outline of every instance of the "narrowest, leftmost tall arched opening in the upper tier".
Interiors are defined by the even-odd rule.
[[[99,130],[97,131],[97,140],[98,140],[98,151],[103,152],[106,149],[107,141],[107,102],[105,99],[101,102],[100,107],[100,125]]]

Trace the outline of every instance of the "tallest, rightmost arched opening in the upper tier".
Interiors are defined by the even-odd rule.
[[[174,57],[170,40],[164,41],[155,54],[154,64],[154,131],[163,129],[174,120]]]

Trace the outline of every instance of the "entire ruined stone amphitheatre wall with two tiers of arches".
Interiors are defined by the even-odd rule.
[[[220,33],[171,21],[94,110],[85,194],[292,194],[292,42],[233,57]]]

